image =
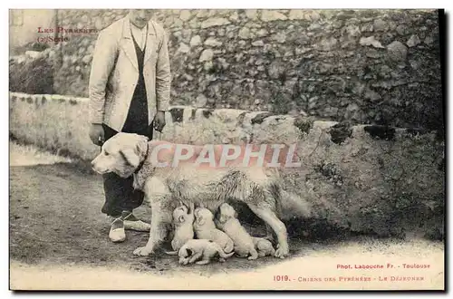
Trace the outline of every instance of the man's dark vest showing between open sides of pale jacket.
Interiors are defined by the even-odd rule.
[[[137,82],[137,86],[135,87],[134,95],[130,101],[128,117],[121,131],[148,135],[148,98],[146,95],[145,78],[143,76],[146,41],[145,47],[141,50],[139,44],[135,41],[134,35],[131,35],[135,45],[135,52],[137,53],[137,62],[139,63],[139,82]]]

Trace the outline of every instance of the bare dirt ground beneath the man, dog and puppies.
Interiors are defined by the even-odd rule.
[[[176,256],[166,256],[162,252],[150,257],[133,256],[132,251],[137,246],[146,244],[148,234],[128,231],[126,242],[111,243],[107,218],[101,214],[101,176],[82,170],[86,168],[77,162],[71,163],[71,160],[55,158],[14,143],[10,144],[10,151],[11,271],[33,268],[40,273],[39,269],[45,265],[51,268],[120,268],[128,273],[148,275],[214,275],[253,272],[288,262],[274,257],[257,261],[232,257],[223,264],[181,266]],[[139,217],[149,220],[149,214],[147,207],[138,209]],[[248,226],[255,235],[264,233],[263,228],[260,225]],[[406,251],[407,254],[407,249],[402,249],[404,246],[421,255],[425,250],[425,253],[443,255],[444,247],[441,242],[374,239],[371,236],[336,239],[292,236],[289,260],[319,257],[320,253],[321,256],[335,256],[340,252],[348,255],[345,248],[351,246],[355,248],[354,254],[365,256],[375,252],[398,255]]]

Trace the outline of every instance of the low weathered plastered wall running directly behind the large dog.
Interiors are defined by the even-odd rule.
[[[10,93],[10,115],[18,140],[82,159],[99,153],[88,138],[88,99]],[[166,118],[162,140],[297,144],[302,167],[282,170],[283,187],[318,223],[379,236],[444,235],[444,142],[432,131],[228,109],[172,107]]]

